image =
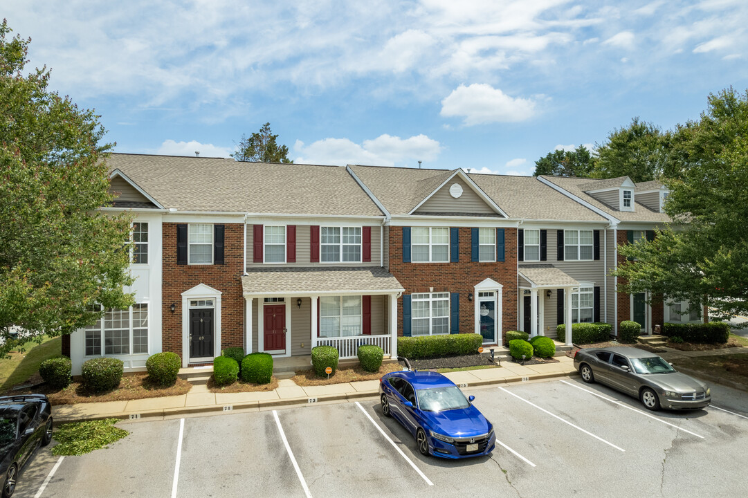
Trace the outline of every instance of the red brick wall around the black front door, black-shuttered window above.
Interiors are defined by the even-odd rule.
[[[163,224],[163,351],[182,356],[182,293],[200,283],[222,292],[221,349],[244,345],[244,225],[224,227],[224,265],[177,265],[177,224]]]

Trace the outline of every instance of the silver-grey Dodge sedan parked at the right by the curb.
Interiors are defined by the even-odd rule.
[[[698,409],[711,403],[709,387],[677,372],[657,354],[637,348],[589,348],[574,354],[582,380],[598,381],[641,400],[649,410]]]

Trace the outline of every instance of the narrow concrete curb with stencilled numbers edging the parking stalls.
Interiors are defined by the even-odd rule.
[[[489,380],[479,380],[470,382],[467,387],[485,387],[492,384],[515,384],[528,381],[538,381],[548,378],[558,377],[571,377],[579,375],[577,372],[548,372],[539,373],[534,375],[527,375],[525,377],[507,377],[497,378]],[[310,403],[310,398],[289,398],[289,399],[268,399],[256,402],[245,402],[236,405],[203,405],[194,407],[180,407],[180,408],[162,408],[159,410],[141,411],[141,412],[122,412],[119,414],[101,414],[101,415],[82,415],[82,416],[55,416],[55,408],[52,407],[52,416],[54,416],[55,426],[69,422],[85,422],[88,420],[102,420],[102,419],[173,419],[180,415],[221,415],[221,414],[232,414],[238,411],[245,410],[262,410],[263,408],[273,407],[292,407],[298,405],[309,405],[313,406],[319,403],[325,402],[352,402],[358,399],[378,397],[378,390],[371,391],[358,391],[354,393],[337,393],[316,396],[316,402]],[[69,405],[70,406],[70,405]],[[225,410],[224,406],[230,406],[230,410]]]

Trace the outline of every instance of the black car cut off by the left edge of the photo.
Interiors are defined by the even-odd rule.
[[[43,394],[0,397],[0,475],[2,498],[16,491],[23,464],[37,449],[52,440],[52,408]]]

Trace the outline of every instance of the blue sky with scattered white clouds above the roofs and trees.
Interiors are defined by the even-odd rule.
[[[640,117],[748,87],[748,1],[8,1],[50,87],[117,152],[529,174]]]

